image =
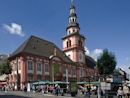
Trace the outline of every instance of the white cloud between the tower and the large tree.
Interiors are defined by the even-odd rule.
[[[101,53],[103,53],[102,49],[95,49],[90,52],[87,47],[85,47],[85,51],[85,54],[92,57],[95,61],[97,61],[97,57],[100,56]]]

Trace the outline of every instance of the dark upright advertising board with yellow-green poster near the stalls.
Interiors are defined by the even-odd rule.
[[[76,93],[77,92],[77,79],[70,78],[70,92]]]

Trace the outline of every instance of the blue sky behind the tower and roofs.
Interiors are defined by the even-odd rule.
[[[117,68],[130,66],[130,0],[74,0],[86,54],[107,48]],[[0,54],[13,53],[31,35],[62,50],[71,0],[0,0]]]

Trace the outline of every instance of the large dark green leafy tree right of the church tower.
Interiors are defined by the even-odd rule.
[[[111,74],[116,67],[116,58],[107,49],[97,59],[97,67],[100,75]]]

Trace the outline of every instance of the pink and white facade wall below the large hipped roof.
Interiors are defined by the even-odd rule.
[[[62,74],[62,81],[66,80],[67,82],[69,81],[69,78],[71,77],[76,77],[77,81],[80,81],[80,76],[79,76],[79,68],[74,64],[69,64],[69,63],[64,63],[63,60],[57,56],[51,57],[51,59],[49,58],[43,58],[40,56],[34,56],[34,55],[27,55],[27,54],[23,54],[23,55],[19,55],[19,59],[18,61],[20,62],[21,68],[19,69],[19,75],[20,75],[20,86],[21,89],[23,89],[24,84],[27,84],[29,81],[31,82],[36,82],[38,81],[39,78],[41,78],[41,81],[52,81],[52,76],[50,75],[50,70],[53,66],[54,63],[58,63],[59,65],[61,65],[61,74]],[[28,70],[28,61],[31,61],[33,64],[33,68],[32,70]],[[12,65],[12,74],[10,74],[10,78],[9,78],[9,83],[10,85],[14,85],[15,89],[17,88],[16,86],[16,76],[17,76],[17,72],[15,69],[15,63],[16,63],[16,59],[11,60],[11,65]],[[37,63],[41,63],[41,71],[37,71]],[[48,72],[45,72],[45,66],[49,67]],[[70,68],[71,69],[71,74],[68,73],[63,73],[63,68],[66,69],[66,72],[68,72],[67,70]],[[80,66],[80,68],[84,68],[84,66]],[[76,70],[76,74],[73,75],[73,69]],[[85,71],[83,73],[83,76],[85,76]],[[13,77],[13,78],[11,78]],[[30,80],[31,79],[31,80]]]

